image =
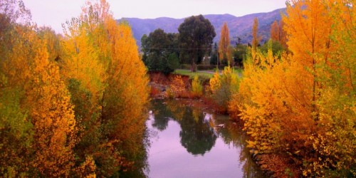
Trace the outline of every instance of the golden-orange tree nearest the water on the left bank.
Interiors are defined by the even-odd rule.
[[[120,140],[115,144],[118,151],[128,161],[135,161],[136,166],[140,166],[139,160],[145,157],[142,139],[148,101],[146,68],[139,58],[130,26],[110,19],[108,27],[112,56],[106,80],[108,87],[103,94],[104,130],[108,138]]]

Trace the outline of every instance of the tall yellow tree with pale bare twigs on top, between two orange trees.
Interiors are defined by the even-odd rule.
[[[104,1],[103,1],[104,3]],[[78,122],[79,142],[75,145],[77,162],[87,162],[92,157],[95,162],[108,162],[105,168],[96,167],[95,172],[75,172],[77,175],[108,175],[117,170],[119,162],[115,152],[110,151],[108,140],[102,141],[100,112],[103,90],[105,89],[105,70],[108,65],[108,39],[103,28],[103,19],[98,11],[105,11],[105,4],[86,4],[78,18],[72,18],[64,24],[64,37],[61,41],[62,56],[58,65],[66,79],[71,102],[75,105],[75,120]],[[106,9],[108,10],[108,9]],[[107,14],[106,12],[104,14]],[[106,157],[103,155],[112,155]],[[100,159],[100,162],[97,161]]]

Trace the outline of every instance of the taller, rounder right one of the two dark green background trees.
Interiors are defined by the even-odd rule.
[[[180,60],[191,63],[192,71],[197,63],[211,51],[213,38],[216,36],[214,26],[204,16],[191,16],[180,24],[179,28]]]

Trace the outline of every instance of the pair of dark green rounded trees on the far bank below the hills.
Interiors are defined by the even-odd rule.
[[[158,28],[141,38],[142,60],[149,70],[171,73],[181,63],[189,64],[195,71],[211,51],[216,36],[214,26],[204,16],[184,19],[179,33],[165,33]]]

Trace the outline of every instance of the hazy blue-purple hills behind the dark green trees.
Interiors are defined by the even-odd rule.
[[[258,18],[258,34],[262,37],[261,43],[264,43],[270,36],[271,23],[275,20],[280,21],[281,14],[283,13],[286,13],[286,9],[276,9],[271,12],[248,14],[239,17],[230,14],[210,14],[204,15],[204,17],[209,19],[215,28],[216,37],[214,41],[219,41],[221,26],[226,21],[229,26],[232,44],[236,43],[238,37],[241,38],[242,43],[250,42],[252,39],[251,30],[253,19]],[[157,28],[162,28],[166,33],[177,33],[178,26],[184,21],[184,19],[168,17],[160,17],[157,19],[122,18],[120,20],[125,20],[130,24],[138,46],[141,46],[140,39],[142,35],[148,35]]]

